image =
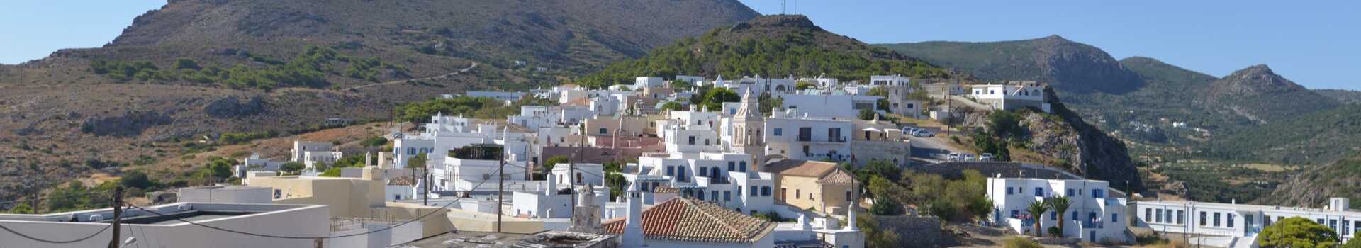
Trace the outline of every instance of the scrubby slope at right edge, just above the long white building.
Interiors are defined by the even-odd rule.
[[[1324,207],[1328,198],[1361,200],[1361,157],[1339,159],[1296,174],[1260,204]]]

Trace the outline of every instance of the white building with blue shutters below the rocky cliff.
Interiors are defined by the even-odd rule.
[[[1045,180],[1045,179],[988,179],[988,198],[992,199],[992,221],[1011,228],[1018,233],[1034,233],[1038,219],[1041,233],[1049,226],[1057,226],[1057,215],[1063,215],[1063,236],[1082,238],[1087,243],[1130,243],[1126,215],[1126,199],[1113,196],[1109,183],[1098,180]],[[1053,210],[1043,214],[1029,213],[1026,207],[1037,200],[1052,196],[1067,196],[1067,213]]]

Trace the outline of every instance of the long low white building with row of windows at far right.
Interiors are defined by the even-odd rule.
[[[1302,217],[1331,228],[1350,241],[1361,232],[1361,211],[1350,208],[1346,198],[1331,198],[1326,208],[1282,207],[1206,202],[1135,202],[1134,215],[1139,226],[1153,232],[1188,233],[1191,244],[1213,247],[1258,247],[1258,233],[1273,222]]]

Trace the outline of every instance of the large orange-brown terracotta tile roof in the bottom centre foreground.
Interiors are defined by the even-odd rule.
[[[622,234],[626,221],[604,223],[610,234]],[[721,206],[676,198],[642,211],[642,236],[648,240],[691,243],[755,243],[770,234],[774,223],[742,215]]]

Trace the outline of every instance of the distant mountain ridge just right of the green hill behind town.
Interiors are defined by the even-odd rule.
[[[1038,80],[1068,93],[1128,93],[1143,80],[1096,46],[1059,35],[999,42],[881,44],[984,80]]]

